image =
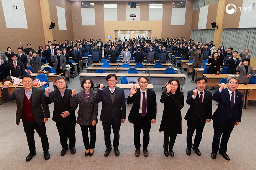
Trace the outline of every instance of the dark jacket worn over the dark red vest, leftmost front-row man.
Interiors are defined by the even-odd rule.
[[[23,66],[23,65],[22,65]],[[23,88],[16,88],[10,95],[7,89],[2,89],[2,98],[4,102],[16,100],[17,111],[16,111],[16,124],[20,124],[23,99],[25,90]],[[36,123],[39,125],[43,124],[44,118],[50,118],[50,110],[48,104],[44,102],[43,89],[32,88],[32,113],[36,119]],[[42,104],[42,106],[41,106]],[[43,107],[43,108],[42,108]]]

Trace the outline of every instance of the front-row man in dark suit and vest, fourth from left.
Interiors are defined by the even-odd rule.
[[[126,119],[124,89],[116,87],[116,79],[116,74],[108,74],[106,77],[108,86],[103,89],[104,84],[100,84],[100,88],[95,95],[95,102],[102,102],[100,120],[102,121],[105,145],[107,147],[104,154],[105,157],[112,150],[110,141],[111,126],[114,133],[113,147],[115,155],[119,156],[119,130],[121,123],[124,123]]]

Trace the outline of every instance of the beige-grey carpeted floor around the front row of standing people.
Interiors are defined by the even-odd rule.
[[[85,72],[85,70],[83,71]],[[191,81],[191,76],[186,78],[184,97],[186,100],[187,92],[195,88]],[[107,83],[106,83],[107,84]],[[76,88],[81,90],[79,77],[72,79],[68,83],[69,89]],[[149,156],[145,158],[141,147],[140,157],[134,156],[135,147],[133,144],[133,125],[128,121],[122,124],[120,128],[120,156],[116,157],[112,150],[108,157],[104,157],[106,150],[104,143],[104,134],[102,124],[99,120],[96,128],[96,148],[92,157],[85,157],[84,144],[80,126],[76,125],[76,154],[72,155],[70,150],[63,157],[60,156],[61,145],[59,134],[55,122],[50,118],[46,123],[46,131],[49,139],[51,158],[44,160],[40,138],[35,133],[37,154],[31,161],[26,162],[25,158],[29,153],[26,135],[22,126],[16,125],[16,103],[7,102],[0,105],[0,169],[256,169],[256,115],[255,101],[249,101],[248,108],[243,109],[242,122],[235,126],[229,142],[227,154],[230,161],[225,160],[220,154],[216,159],[211,158],[211,145],[213,138],[212,121],[206,123],[203,132],[203,139],[199,146],[201,156],[197,156],[192,150],[191,155],[185,153],[187,122],[182,120],[182,135],[178,135],[174,144],[174,157],[165,157],[163,148],[163,132],[159,132],[159,126],[162,119],[163,106],[160,103],[161,89],[163,85],[154,85],[157,97],[157,118],[156,123],[152,124],[150,131],[150,143],[148,145]],[[218,88],[215,88],[215,90]],[[97,89],[95,89],[96,91]],[[212,93],[214,91],[211,91]],[[49,105],[52,117],[53,104]],[[126,104],[126,116],[128,117],[132,105]],[[99,104],[99,115],[102,104]],[[184,104],[181,110],[184,118],[188,104]],[[215,101],[212,101],[212,111],[217,108]],[[78,109],[76,110],[76,112]],[[141,134],[141,143],[142,143]],[[194,138],[193,138],[194,139]],[[113,134],[111,135],[113,140]]]

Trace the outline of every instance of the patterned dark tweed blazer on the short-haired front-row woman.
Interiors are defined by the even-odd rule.
[[[92,120],[96,120],[98,123],[98,108],[99,104],[95,102],[96,93],[90,90],[89,100],[86,101],[84,90],[77,93],[75,96],[71,96],[70,105],[76,106],[79,104],[79,110],[77,112],[76,123],[83,126],[92,125]]]

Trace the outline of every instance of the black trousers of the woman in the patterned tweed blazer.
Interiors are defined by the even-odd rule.
[[[82,135],[83,135],[83,142],[84,147],[86,150],[95,148],[95,141],[96,141],[96,124],[94,126],[83,126],[80,125]],[[90,130],[90,142],[88,137],[88,128]]]

